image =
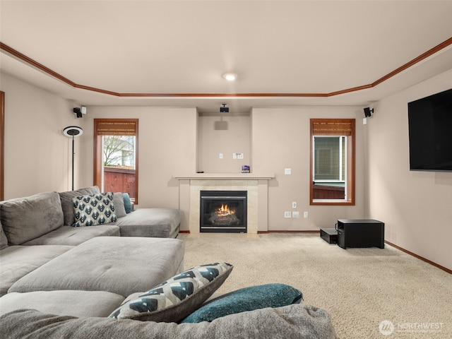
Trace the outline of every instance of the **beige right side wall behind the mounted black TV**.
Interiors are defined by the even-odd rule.
[[[452,173],[410,172],[407,106],[449,88],[452,70],[381,100],[364,142],[367,217],[385,222],[388,242],[452,269]]]

